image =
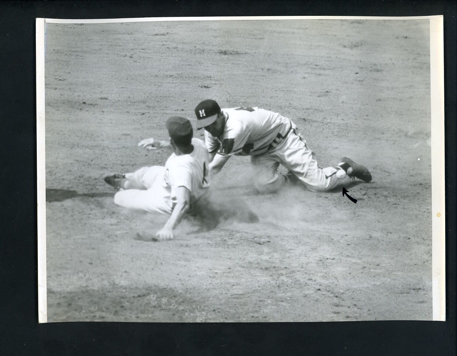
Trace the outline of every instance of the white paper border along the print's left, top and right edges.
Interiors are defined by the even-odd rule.
[[[46,172],[44,122],[44,35],[47,23],[116,23],[232,20],[424,20],[430,19],[432,298],[433,320],[446,320],[445,166],[444,166],[444,33],[443,16],[223,16],[143,17],[118,19],[36,19],[37,70],[37,223],[38,321],[47,321],[46,300]]]

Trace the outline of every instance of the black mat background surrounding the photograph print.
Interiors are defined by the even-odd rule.
[[[0,355],[455,355],[456,14],[453,1],[0,2]],[[35,18],[262,15],[444,15],[447,321],[38,324]]]

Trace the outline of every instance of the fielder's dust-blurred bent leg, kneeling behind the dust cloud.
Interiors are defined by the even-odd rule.
[[[268,154],[251,156],[254,169],[255,188],[261,193],[274,193],[286,182],[283,174],[278,173],[279,162]]]

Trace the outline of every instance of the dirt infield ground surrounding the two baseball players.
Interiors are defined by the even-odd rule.
[[[432,318],[428,20],[48,24],[48,321],[339,321]],[[256,194],[249,158],[214,182],[260,221],[175,240],[167,217],[123,210],[102,177],[164,165],[137,147],[206,98],[301,129],[321,167],[371,183]],[[199,131],[197,137],[200,136]]]

